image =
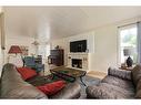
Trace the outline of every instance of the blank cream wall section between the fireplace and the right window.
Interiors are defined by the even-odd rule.
[[[92,55],[94,71],[105,72],[109,66],[117,66],[118,40],[117,27],[109,25],[95,29],[95,48]]]

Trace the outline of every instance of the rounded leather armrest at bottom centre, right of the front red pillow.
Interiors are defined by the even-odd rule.
[[[80,84],[79,83],[69,83],[64,88],[58,92],[56,95],[50,98],[63,98],[63,99],[72,99],[80,97]]]

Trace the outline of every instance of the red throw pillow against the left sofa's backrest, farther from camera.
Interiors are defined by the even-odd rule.
[[[17,67],[17,71],[24,81],[37,75],[37,72],[30,67]]]

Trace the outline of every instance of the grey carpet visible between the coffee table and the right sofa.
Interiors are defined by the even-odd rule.
[[[87,98],[87,94],[85,94],[85,88],[87,86],[91,86],[91,85],[95,85],[100,82],[100,78],[95,78],[95,77],[91,77],[91,76],[84,76],[83,77],[83,82],[87,86],[82,85],[82,83],[80,82],[80,80],[78,80],[78,82],[81,85],[81,96],[80,98]]]

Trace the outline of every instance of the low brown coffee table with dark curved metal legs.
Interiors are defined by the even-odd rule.
[[[82,77],[87,74],[85,71],[70,69],[70,67],[57,67],[50,70],[51,74],[54,76],[59,76],[66,81],[74,82],[77,78],[80,78],[81,83],[87,86],[82,80]]]

